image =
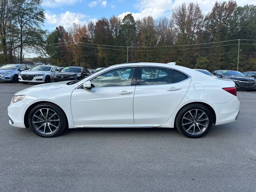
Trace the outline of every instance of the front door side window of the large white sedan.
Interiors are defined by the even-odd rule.
[[[91,83],[94,87],[130,86],[134,70],[134,67],[114,69],[92,79]]]

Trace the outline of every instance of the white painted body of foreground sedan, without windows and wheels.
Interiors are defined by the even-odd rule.
[[[106,71],[126,66],[170,68],[187,74],[189,78],[174,84],[103,87],[91,90],[81,88],[84,82]],[[119,64],[95,72],[75,84],[66,83],[37,85],[17,92],[15,95],[26,96],[21,101],[10,103],[8,115],[13,121],[10,124],[25,128],[24,115],[37,102],[52,102],[60,106],[67,116],[69,128],[173,128],[178,111],[193,102],[211,106],[216,114],[215,124],[219,125],[235,121],[240,106],[236,96],[222,89],[234,87],[234,82],[169,64]]]

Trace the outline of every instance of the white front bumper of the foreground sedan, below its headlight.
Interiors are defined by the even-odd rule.
[[[24,124],[24,115],[28,105],[23,101],[13,103],[8,106],[9,123],[14,127],[26,128]]]

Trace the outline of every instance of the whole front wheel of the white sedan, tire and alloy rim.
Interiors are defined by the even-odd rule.
[[[68,127],[68,121],[60,107],[42,103],[32,108],[28,114],[28,125],[41,137],[56,137]]]

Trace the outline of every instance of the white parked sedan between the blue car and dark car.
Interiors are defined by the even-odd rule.
[[[39,65],[31,70],[22,71],[19,75],[19,81],[27,84],[28,82],[50,83],[52,76],[61,71],[58,66]]]

